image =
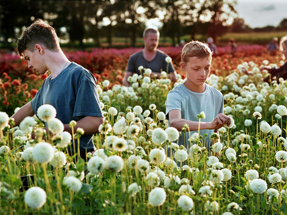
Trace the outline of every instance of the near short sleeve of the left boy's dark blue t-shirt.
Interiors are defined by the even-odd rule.
[[[81,116],[103,117],[96,85],[92,81],[84,80],[79,83],[76,92],[76,102],[73,117],[77,120]]]

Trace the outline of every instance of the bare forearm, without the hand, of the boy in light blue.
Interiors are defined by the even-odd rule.
[[[178,120],[173,120],[170,122],[170,126],[176,128],[179,131],[182,131],[182,128],[184,127],[185,124],[188,125],[189,131],[197,131],[198,130],[199,122],[185,120],[185,119],[178,119]],[[200,122],[200,128],[199,129],[200,130],[210,129],[210,123],[209,122]]]

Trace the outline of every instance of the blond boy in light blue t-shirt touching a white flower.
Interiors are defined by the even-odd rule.
[[[202,42],[189,42],[182,49],[181,69],[186,72],[186,79],[169,91],[165,103],[170,126],[179,131],[185,124],[189,127],[190,132],[179,136],[179,145],[191,146],[193,141],[190,142],[189,137],[198,131],[197,114],[202,111],[205,118],[201,119],[199,129],[200,135],[208,134],[206,138],[203,137],[203,146],[206,148],[212,144],[210,135],[218,133],[224,124],[230,125],[230,118],[223,114],[222,93],[205,83],[210,73],[211,60],[210,48]]]

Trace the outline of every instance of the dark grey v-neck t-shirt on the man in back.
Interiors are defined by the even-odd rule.
[[[168,55],[160,50],[156,50],[156,56],[151,61],[147,61],[144,58],[143,51],[136,52],[129,57],[129,61],[127,63],[127,71],[132,73],[137,73],[140,75],[140,71],[138,70],[139,66],[143,66],[146,69],[151,69],[152,72],[160,73],[162,71],[166,71],[167,62],[165,58]],[[172,65],[172,62],[168,64],[168,73],[174,72],[175,69]]]

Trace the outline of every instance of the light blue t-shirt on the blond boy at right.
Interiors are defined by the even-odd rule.
[[[166,119],[169,119],[168,113],[171,110],[180,110],[181,118],[185,120],[198,122],[196,114],[201,111],[205,113],[205,119],[201,119],[201,122],[211,122],[214,118],[223,113],[223,96],[220,91],[205,84],[206,89],[203,93],[195,93],[181,83],[169,91],[166,98]],[[183,126],[182,126],[183,127]],[[198,132],[191,131],[191,134]],[[208,136],[204,138],[203,134],[207,133]],[[203,136],[203,146],[206,148],[210,147],[210,135],[214,133],[214,130],[200,130],[199,134]],[[179,145],[184,145],[186,148],[190,147],[189,134],[182,132],[182,136],[179,136]]]

